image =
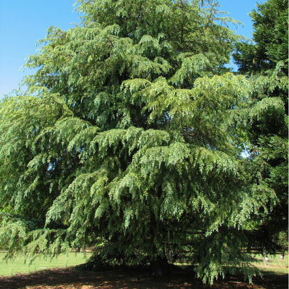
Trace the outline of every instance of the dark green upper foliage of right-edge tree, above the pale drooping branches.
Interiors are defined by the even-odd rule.
[[[250,13],[255,44],[238,43],[234,55],[239,71],[266,72],[282,60],[288,75],[288,1],[267,0],[256,6]]]

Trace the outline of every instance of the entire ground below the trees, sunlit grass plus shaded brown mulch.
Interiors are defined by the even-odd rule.
[[[0,258],[5,254],[0,253]],[[90,254],[86,254],[89,258]],[[74,270],[73,266],[85,262],[82,253],[62,254],[52,261],[37,258],[31,266],[24,264],[23,257],[15,261],[0,261],[0,288],[2,289],[288,289],[288,254],[284,260],[280,254],[269,256],[268,265],[261,255],[254,256],[254,265],[263,272],[263,277],[253,278],[253,284],[244,281],[243,276],[226,276],[213,286],[204,285],[192,274],[174,273],[170,279],[156,278],[147,272],[113,270],[88,272]],[[66,269],[63,269],[65,268]],[[53,269],[54,268],[54,269]],[[28,274],[29,273],[29,274]]]

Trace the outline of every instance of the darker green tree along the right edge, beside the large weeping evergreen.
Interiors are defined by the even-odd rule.
[[[280,233],[288,236],[288,1],[267,0],[250,15],[255,43],[240,42],[234,59],[251,81],[251,172],[258,186],[278,197],[251,234],[266,254],[279,244]]]

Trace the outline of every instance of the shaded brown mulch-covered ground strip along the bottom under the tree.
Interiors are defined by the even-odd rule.
[[[108,272],[85,272],[68,269],[46,270],[27,275],[0,278],[3,289],[285,289],[288,288],[288,274],[264,275],[253,279],[254,284],[244,282],[242,277],[227,277],[218,280],[213,286],[204,285],[199,279],[188,274],[175,273],[170,279],[154,277],[147,272],[115,270]]]

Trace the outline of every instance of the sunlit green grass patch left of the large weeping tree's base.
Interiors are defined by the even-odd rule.
[[[39,256],[31,265],[25,263],[24,256],[17,256],[13,261],[3,261],[5,253],[0,253],[0,276],[13,276],[15,274],[28,274],[35,271],[65,268],[85,263],[90,257],[90,253],[86,255],[82,253],[60,254],[57,258],[43,258]]]

